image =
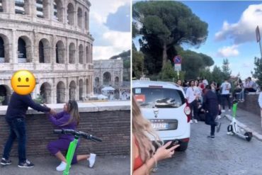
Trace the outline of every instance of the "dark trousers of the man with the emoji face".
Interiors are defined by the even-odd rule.
[[[13,120],[6,120],[9,125],[9,137],[4,146],[5,159],[9,159],[9,154],[11,152],[13,141],[18,139],[18,158],[19,163],[25,162],[25,144],[26,144],[26,132],[25,132],[25,119],[24,118],[14,118]]]

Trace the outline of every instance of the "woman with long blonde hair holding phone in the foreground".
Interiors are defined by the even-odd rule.
[[[153,142],[159,146],[158,149],[154,147],[149,135],[154,137]],[[157,162],[171,158],[175,149],[179,147],[179,145],[175,145],[166,149],[171,145],[171,142],[160,145],[157,140],[159,140],[159,136],[149,120],[143,118],[140,108],[132,96],[132,175],[150,174],[154,166],[157,166]]]

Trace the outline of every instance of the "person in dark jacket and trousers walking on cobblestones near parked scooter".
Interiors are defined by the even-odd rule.
[[[205,123],[211,126],[210,135],[208,138],[215,139],[215,127],[217,126],[217,132],[220,131],[221,123],[215,121],[219,113],[219,104],[217,101],[217,95],[211,91],[211,86],[205,87],[205,95],[203,98],[203,109],[205,110]]]

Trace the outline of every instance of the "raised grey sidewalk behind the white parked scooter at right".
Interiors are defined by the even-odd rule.
[[[232,118],[232,111],[222,113],[222,116],[226,116],[228,120]],[[239,127],[243,128],[247,132],[252,132],[256,139],[262,141],[262,128],[261,128],[261,116],[254,113],[249,113],[249,111],[244,111],[241,108],[237,108],[237,121],[239,122]],[[229,124],[229,123],[228,123]]]

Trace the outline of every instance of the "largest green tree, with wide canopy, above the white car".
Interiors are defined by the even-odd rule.
[[[161,69],[174,56],[173,45],[188,43],[199,47],[207,38],[207,23],[178,1],[139,1],[133,4],[132,17],[142,25],[142,52],[154,55],[154,63],[160,60]],[[154,71],[161,70],[156,68]]]

